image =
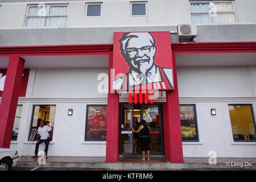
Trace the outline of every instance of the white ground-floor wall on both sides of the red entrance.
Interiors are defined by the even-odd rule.
[[[108,68],[31,69],[27,97],[19,100],[23,109],[18,142],[12,142],[11,148],[26,155],[32,105],[54,104],[48,155],[105,156],[106,142],[84,141],[86,105],[107,104],[106,94],[96,92],[99,73],[108,73]],[[233,142],[228,110],[228,104],[252,104],[255,116],[255,75],[255,66],[177,68],[180,104],[196,105],[199,134],[199,142],[183,142],[184,157],[208,158],[209,151],[216,151],[217,157],[256,157],[256,142]],[[216,108],[217,115],[210,115],[211,108]],[[72,116],[68,116],[68,109],[73,109]],[[34,154],[35,143],[28,155]],[[44,150],[44,144],[39,150]]]

